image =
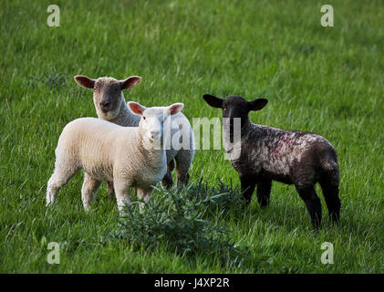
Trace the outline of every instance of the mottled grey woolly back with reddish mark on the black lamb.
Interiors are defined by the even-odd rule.
[[[265,172],[276,180],[289,181],[292,169],[300,163],[319,163],[319,155],[333,152],[322,136],[299,130],[281,130],[252,125],[242,137],[241,156],[234,162],[240,172]]]

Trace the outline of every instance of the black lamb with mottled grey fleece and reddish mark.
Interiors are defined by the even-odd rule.
[[[269,204],[272,181],[294,184],[306,203],[312,224],[321,224],[321,203],[315,190],[320,183],[330,218],[337,222],[340,214],[338,198],[338,163],[333,146],[323,137],[306,131],[280,130],[256,125],[248,118],[250,110],[261,110],[267,99],[247,101],[240,96],[219,99],[205,94],[203,99],[213,108],[223,110],[224,148],[234,170],[239,173],[241,190],[250,203],[257,184],[257,200],[261,207]],[[241,119],[241,147],[234,149],[234,120]]]

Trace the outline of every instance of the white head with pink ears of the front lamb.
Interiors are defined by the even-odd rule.
[[[173,103],[169,107],[146,108],[138,102],[128,102],[128,108],[141,117],[139,123],[141,136],[150,143],[161,141],[164,127],[168,129],[169,126],[171,130],[171,123],[167,123],[171,122],[169,118],[180,112],[183,107],[182,103]]]

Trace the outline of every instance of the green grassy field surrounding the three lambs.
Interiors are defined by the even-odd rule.
[[[328,1],[334,27],[320,25],[321,1],[57,0],[60,27],[47,26],[50,4],[1,1],[1,273],[384,273],[382,1]],[[134,203],[120,219],[105,183],[84,212],[81,173],[46,208],[61,130],[96,116],[77,74],[139,75],[126,99],[181,101],[191,120],[221,115],[203,93],[269,99],[255,123],[335,146],[340,224],[318,187],[318,232],[293,186],[274,183],[267,209],[254,200],[243,212],[223,150],[197,151],[188,188],[156,191],[143,214]],[[320,261],[324,242],[333,265]]]

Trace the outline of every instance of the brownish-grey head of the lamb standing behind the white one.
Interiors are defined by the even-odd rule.
[[[131,76],[125,80],[102,77],[91,79],[86,76],[75,76],[75,81],[84,88],[93,89],[93,103],[98,117],[113,120],[119,115],[122,103],[125,103],[122,90],[131,89],[140,83],[139,76]]]

